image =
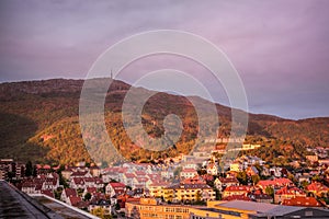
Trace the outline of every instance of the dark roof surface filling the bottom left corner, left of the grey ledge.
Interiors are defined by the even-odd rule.
[[[0,181],[0,218],[48,218],[4,181]]]

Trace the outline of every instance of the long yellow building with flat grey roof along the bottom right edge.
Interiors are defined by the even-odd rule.
[[[329,210],[300,208],[265,203],[231,200],[207,201],[207,206],[167,205],[154,198],[126,203],[126,218],[131,219],[238,219],[238,218],[328,218]]]

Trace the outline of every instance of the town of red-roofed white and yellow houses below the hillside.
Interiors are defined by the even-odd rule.
[[[260,209],[285,207],[286,214],[297,216],[310,211],[328,216],[327,151],[311,152],[309,166],[303,169],[275,166],[254,155],[241,155],[220,166],[214,153],[196,152],[105,169],[86,162],[36,164],[26,174],[27,164],[2,159],[0,176],[31,196],[56,198],[89,212],[102,209],[104,217],[122,212],[129,218],[216,218],[220,214],[261,218],[260,212],[270,214],[256,210],[256,204]]]

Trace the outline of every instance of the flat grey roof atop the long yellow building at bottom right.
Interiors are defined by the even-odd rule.
[[[284,216],[286,214],[304,209],[304,207],[281,206],[266,203],[253,203],[246,200],[232,200],[217,206],[227,208],[238,208],[241,210],[253,210],[261,215]]]

